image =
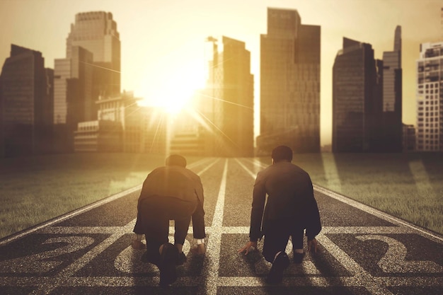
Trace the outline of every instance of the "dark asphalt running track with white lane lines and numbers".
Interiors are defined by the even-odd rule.
[[[248,241],[252,158],[206,158],[188,166],[205,188],[207,253],[192,255],[178,280],[159,287],[159,270],[130,243],[141,186],[0,241],[0,294],[443,294],[443,237],[314,185],[323,230],[308,253],[267,285],[270,264]],[[173,241],[171,223],[170,239]],[[292,245],[287,253],[292,258]],[[306,243],[305,243],[306,250]]]

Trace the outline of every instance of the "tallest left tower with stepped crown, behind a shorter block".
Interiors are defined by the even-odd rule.
[[[67,37],[66,57],[79,46],[93,54],[93,100],[120,95],[120,34],[112,13],[77,13]]]

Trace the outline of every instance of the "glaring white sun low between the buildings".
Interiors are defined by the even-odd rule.
[[[141,104],[158,107],[174,115],[192,106],[192,96],[205,86],[205,73],[195,64],[171,66],[146,81],[150,83],[139,91],[144,98]]]

